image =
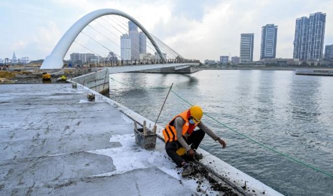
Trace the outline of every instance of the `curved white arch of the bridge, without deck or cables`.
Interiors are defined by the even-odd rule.
[[[62,68],[64,63],[64,57],[66,53],[68,52],[69,48],[73,44],[74,40],[77,38],[77,36],[80,34],[80,32],[86,27],[90,22],[95,20],[96,18],[99,18],[104,15],[119,15],[123,16],[132,22],[134,22],[148,37],[148,39],[151,41],[152,45],[160,55],[160,58],[166,62],[166,59],[164,55],[162,54],[159,46],[156,44],[153,37],[149,34],[149,32],[143,27],[135,18],[128,15],[125,12],[122,12],[117,9],[98,9],[95,11],[92,11],[86,15],[84,15],[82,18],[80,18],[76,23],[74,23],[71,28],[67,30],[67,32],[63,35],[63,37],[59,40],[56,47],[53,49],[51,54],[47,56],[40,67],[41,69],[53,69],[53,68]],[[120,38],[119,38],[120,39]]]

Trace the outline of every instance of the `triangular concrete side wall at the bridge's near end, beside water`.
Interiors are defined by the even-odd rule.
[[[75,77],[72,81],[101,94],[109,91],[109,71],[107,68]]]

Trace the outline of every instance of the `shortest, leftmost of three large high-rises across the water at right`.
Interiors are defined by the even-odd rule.
[[[241,34],[241,46],[240,46],[241,62],[253,61],[253,39],[254,39],[254,33]]]

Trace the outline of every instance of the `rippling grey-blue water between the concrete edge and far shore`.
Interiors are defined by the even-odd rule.
[[[170,86],[192,104],[237,131],[333,173],[333,77],[294,71],[203,70],[192,74],[117,73],[110,98],[156,120]],[[188,105],[170,93],[159,120],[165,125]],[[207,117],[227,142],[205,136],[200,147],[285,195],[333,195],[333,178],[294,163]]]

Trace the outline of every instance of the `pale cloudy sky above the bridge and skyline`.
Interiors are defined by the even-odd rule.
[[[0,58],[15,52],[44,59],[78,19],[101,8],[126,12],[180,55],[201,62],[239,56],[241,33],[254,33],[253,60],[259,60],[266,24],[278,25],[276,57],[292,58],[296,18],[318,11],[327,14],[324,48],[333,44],[333,0],[1,0]],[[89,51],[73,44],[65,59],[71,52]]]

